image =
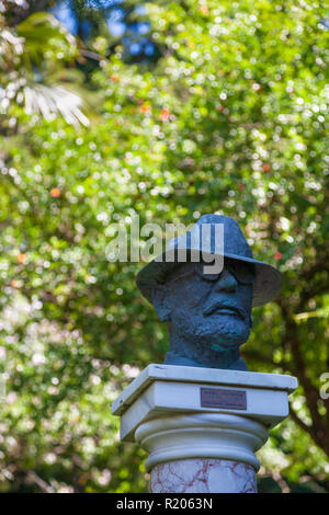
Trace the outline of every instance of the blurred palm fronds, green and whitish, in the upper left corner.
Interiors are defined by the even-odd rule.
[[[80,96],[64,85],[65,65],[76,57],[76,38],[49,13],[31,14],[12,28],[0,12],[0,114],[24,105],[25,113],[41,113],[48,121],[60,114],[69,124],[89,125]],[[59,71],[59,81],[54,81]],[[14,117],[0,119],[0,130],[15,123]]]

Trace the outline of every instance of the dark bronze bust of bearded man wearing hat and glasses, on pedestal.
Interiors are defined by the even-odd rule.
[[[218,225],[224,229],[220,249],[214,241]],[[202,238],[205,226],[212,231],[206,254]],[[200,234],[196,240],[195,233]],[[183,245],[180,238],[137,275],[143,295],[169,325],[170,352],[164,363],[247,370],[239,347],[250,334],[251,309],[279,294],[280,272],[252,258],[245,236],[230,217],[202,216],[185,234]],[[184,262],[178,259],[182,247]],[[203,258],[206,255],[208,262],[219,253],[220,272],[206,273]]]

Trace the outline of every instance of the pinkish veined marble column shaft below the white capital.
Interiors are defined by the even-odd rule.
[[[226,459],[182,459],[157,465],[154,493],[257,493],[253,467]]]

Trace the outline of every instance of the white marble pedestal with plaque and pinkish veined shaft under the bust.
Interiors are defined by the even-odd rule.
[[[149,453],[155,493],[256,492],[254,453],[288,415],[295,377],[149,365],[121,393],[121,439]]]

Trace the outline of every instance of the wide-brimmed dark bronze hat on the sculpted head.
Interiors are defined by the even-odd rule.
[[[215,234],[218,234],[216,226],[219,225],[224,228],[224,240],[219,239],[218,242]],[[202,230],[206,226],[207,234],[209,234],[207,239],[202,237]],[[234,218],[223,215],[204,215],[185,234],[170,240],[166,251],[137,274],[137,286],[151,304],[152,290],[163,284],[169,272],[181,264],[182,260],[178,259],[178,252],[182,251],[185,252],[186,261],[195,261],[195,254],[202,253],[202,256],[220,255],[252,263],[256,273],[252,306],[263,306],[270,302],[281,290],[281,273],[274,266],[253,259],[251,249]]]

